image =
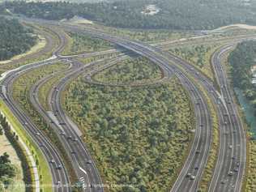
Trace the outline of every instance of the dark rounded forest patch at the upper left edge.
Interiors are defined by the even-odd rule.
[[[0,34],[0,61],[28,51],[37,40],[17,19],[0,17]]]

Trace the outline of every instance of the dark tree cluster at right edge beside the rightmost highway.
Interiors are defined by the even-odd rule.
[[[230,53],[228,62],[231,64],[233,84],[251,101],[256,113],[256,87],[252,83],[251,67],[255,66],[256,41],[245,41],[237,45]]]

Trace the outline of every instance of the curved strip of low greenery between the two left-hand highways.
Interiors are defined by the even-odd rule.
[[[23,109],[23,111],[28,114],[28,117],[32,119],[32,121],[39,129],[44,131],[45,135],[49,137],[53,145],[58,149],[70,175],[70,181],[72,182],[76,181],[76,177],[74,169],[72,169],[70,159],[66,154],[66,150],[63,148],[62,143],[60,143],[58,140],[58,136],[54,130],[52,130],[50,126],[45,123],[41,115],[36,111],[36,109],[34,109],[29,98],[29,91],[32,85],[36,83],[36,81],[45,77],[45,75],[53,74],[59,70],[65,70],[67,66],[67,64],[57,63],[48,66],[42,66],[40,68],[30,70],[26,74],[20,75],[19,79],[15,79],[13,84],[13,97]]]

